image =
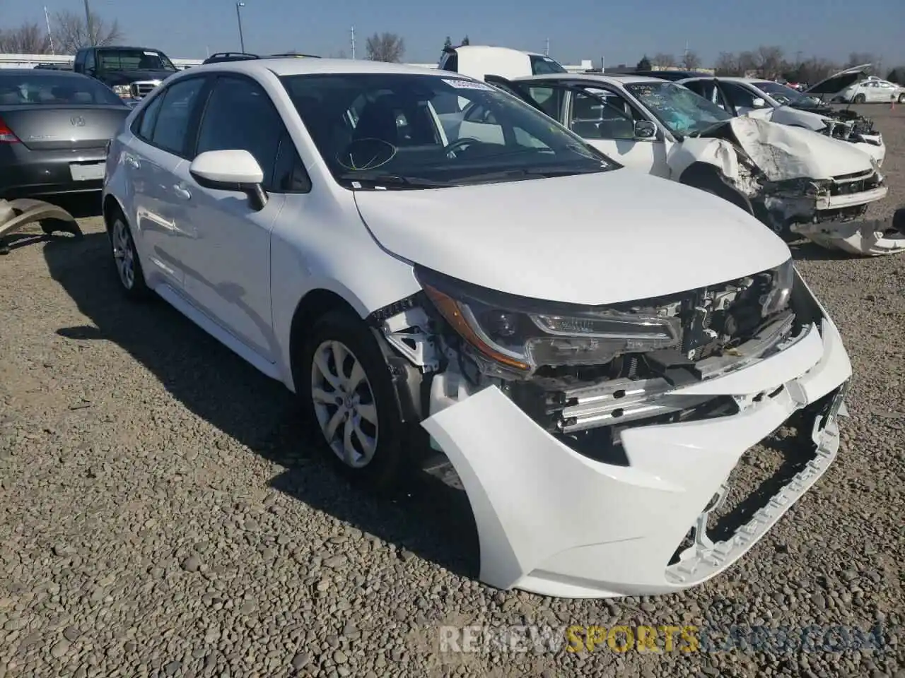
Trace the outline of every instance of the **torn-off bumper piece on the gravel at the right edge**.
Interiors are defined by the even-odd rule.
[[[792,231],[826,248],[862,257],[880,257],[905,251],[905,207],[889,219],[804,223]]]

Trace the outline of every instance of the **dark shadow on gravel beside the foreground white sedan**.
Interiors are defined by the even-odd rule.
[[[51,239],[44,247],[47,266],[90,324],[62,327],[57,334],[119,345],[195,416],[282,466],[271,479],[273,489],[456,574],[477,575],[477,532],[461,489],[427,473],[392,499],[349,485],[323,457],[315,437],[319,431],[303,423],[295,398],[280,382],[162,300],[129,303],[119,290],[104,233],[62,240]]]

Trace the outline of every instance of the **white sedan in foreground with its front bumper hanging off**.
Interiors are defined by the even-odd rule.
[[[127,296],[156,291],[298,393],[352,477],[392,483],[426,429],[492,586],[691,587],[836,455],[851,364],[786,244],[477,80],[201,66],[139,104],[106,177]],[[790,418],[801,465],[711,539],[733,468]]]

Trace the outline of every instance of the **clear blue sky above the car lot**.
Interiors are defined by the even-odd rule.
[[[108,21],[119,20],[124,42],[156,48],[174,59],[239,50],[235,0],[89,0]],[[83,0],[45,0],[55,12],[84,12]],[[365,54],[373,33],[405,40],[404,61],[439,59],[447,35],[457,44],[496,44],[543,52],[562,63],[634,64],[644,53],[681,56],[686,42],[703,65],[719,52],[779,45],[786,57],[816,55],[846,61],[872,52],[883,70],[905,65],[905,0],[244,0],[246,52]],[[43,23],[42,0],[0,0],[2,24]]]

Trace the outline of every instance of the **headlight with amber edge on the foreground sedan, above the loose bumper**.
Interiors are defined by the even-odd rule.
[[[605,364],[621,353],[653,351],[681,341],[678,318],[511,297],[424,269],[416,276],[462,339],[523,372],[540,365]]]

